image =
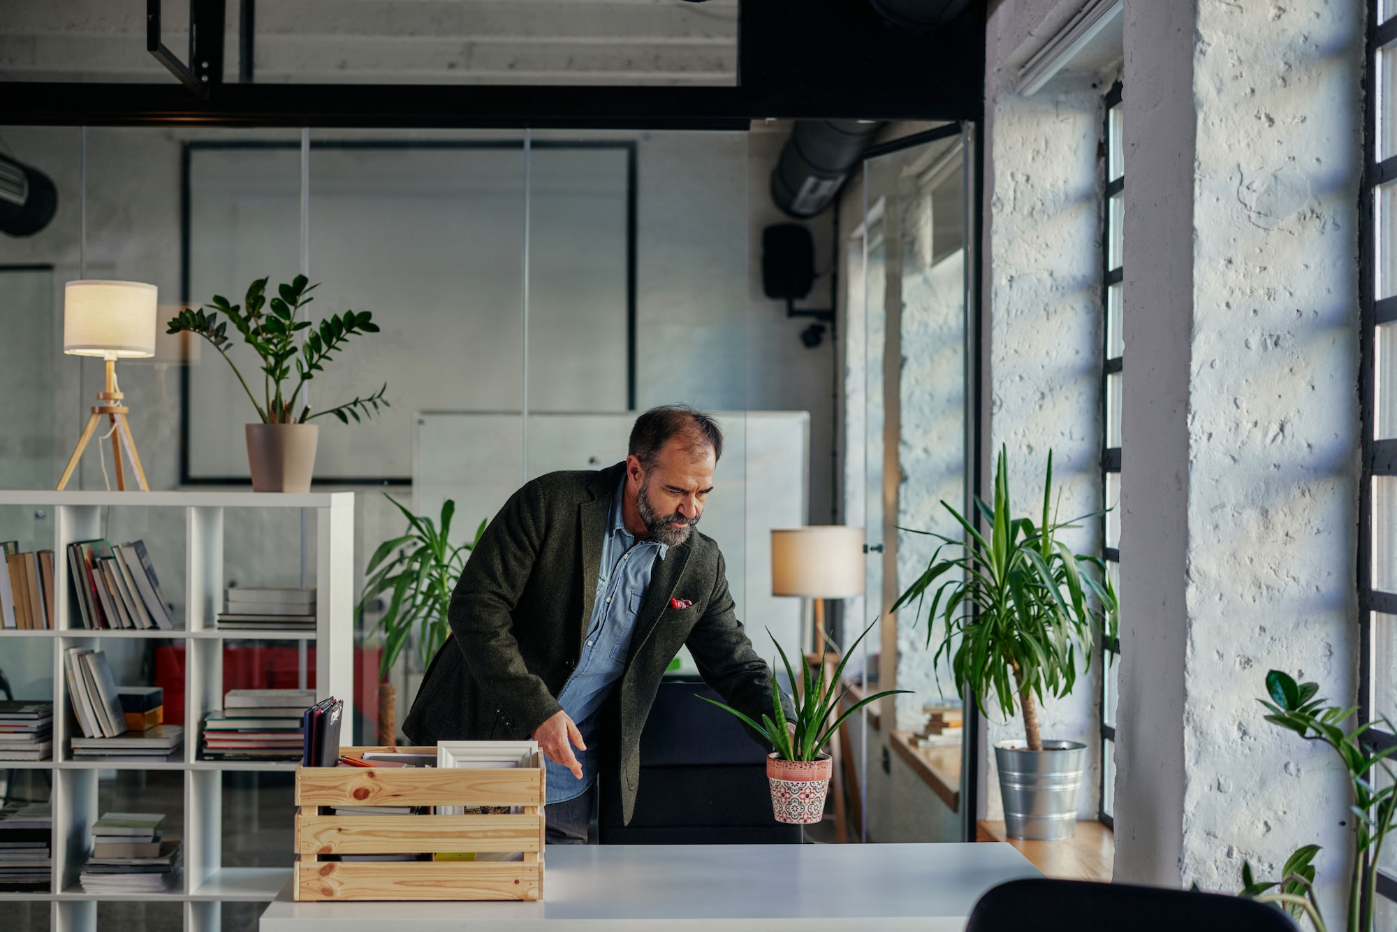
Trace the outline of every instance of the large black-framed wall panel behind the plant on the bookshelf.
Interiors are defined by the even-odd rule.
[[[295,143],[186,143],[183,175],[187,303],[299,272]],[[535,141],[525,159],[518,138],[313,140],[307,177],[310,319],[372,310],[381,327],[309,383],[312,411],[383,383],[391,405],[316,422],[317,482],[411,482],[416,411],[521,409],[525,293],[528,409],[634,405],[634,143]],[[251,351],[229,352],[260,383]],[[232,370],[210,358],[182,379],[180,482],[249,482]]]

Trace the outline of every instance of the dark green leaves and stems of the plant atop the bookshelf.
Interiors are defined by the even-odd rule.
[[[316,288],[319,285],[307,284],[305,275],[296,275],[289,285],[277,285],[277,296],[267,300],[267,279],[258,278],[247,288],[242,305],[229,303],[222,295],[214,295],[214,300],[204,307],[182,310],[168,323],[166,333],[187,331],[212,344],[232,366],[233,374],[237,376],[263,423],[305,423],[326,414],[332,414],[341,423],[349,423],[349,418],[358,422],[360,415],[370,416],[377,412],[379,405],[388,407],[388,400],[383,397],[388,388],[387,383],[367,397],[355,395],[351,401],[314,414],[310,412],[309,404],[296,408],[302,387],[317,372],[324,372],[324,363],[344,349],[351,337],[379,333],[379,324],[373,323],[373,313],[367,310],[331,314],[316,326],[309,320],[298,320],[300,309],[314,300],[310,292]],[[205,309],[214,313],[205,313]],[[218,314],[224,314],[228,320],[219,320]],[[237,363],[228,355],[232,345],[232,337],[228,335],[229,321],[261,361],[261,401],[243,379]],[[298,337],[302,331],[306,331],[305,335]],[[296,381],[288,391],[292,369]]]

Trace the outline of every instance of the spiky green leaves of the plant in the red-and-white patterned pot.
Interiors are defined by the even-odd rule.
[[[831,675],[827,675],[828,664],[826,664],[826,650],[823,646],[820,648],[819,675],[814,675],[810,671],[809,660],[806,660],[805,654],[800,654],[799,680],[796,680],[795,672],[791,669],[791,661],[787,658],[785,650],[782,650],[781,644],[777,643],[777,650],[781,651],[781,662],[785,664],[787,676],[791,678],[791,685],[793,686],[799,682],[803,686],[800,696],[798,697],[799,701],[793,704],[795,718],[792,720],[787,720],[785,708],[781,706],[781,689],[777,686],[775,676],[771,678],[771,714],[767,715],[763,713],[761,724],[752,721],[736,708],[724,706],[722,703],[708,699],[707,696],[698,696],[698,699],[705,703],[712,703],[718,708],[724,708],[745,721],[749,727],[771,742],[771,746],[775,748],[782,760],[816,760],[824,746],[830,743],[830,738],[834,736],[834,732],[838,731],[841,724],[844,724],[845,718],[869,703],[883,699],[884,696],[912,692],[909,689],[888,689],[882,693],[875,693],[873,696],[862,699],[851,706],[834,721],[830,721],[830,715],[838,710],[845,693],[849,692],[849,687],[840,689],[840,676],[844,673],[844,665],[854,654],[854,648],[858,647],[859,641],[863,640],[863,636],[868,634],[872,627],[873,625],[865,627],[863,634],[859,634],[858,640],[849,644],[849,648],[844,653],[844,660],[840,661],[840,665],[834,668],[834,673]],[[767,633],[770,634],[770,632]],[[775,639],[773,639],[773,641],[775,641]],[[791,725],[795,725],[793,732],[788,727],[788,721]]]

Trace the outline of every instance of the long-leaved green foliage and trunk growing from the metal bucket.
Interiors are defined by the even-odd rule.
[[[1009,457],[999,450],[995,468],[995,506],[979,497],[975,507],[986,523],[985,534],[942,502],[965,539],[930,531],[901,528],[937,538],[926,570],[902,592],[893,611],[916,604],[914,623],[921,619],[926,592],[937,580],[928,612],[926,644],[930,647],[936,618],[943,622],[942,640],[933,661],[950,657],[956,690],[965,700],[967,692],[988,714],[986,701],[993,692],[1004,718],[1017,708],[1024,713],[1024,736],[1030,750],[1042,750],[1038,729],[1038,704],[1044,696],[1062,697],[1077,682],[1077,648],[1083,651],[1083,669],[1091,667],[1092,627],[1108,639],[1116,632],[1116,594],[1106,576],[1105,563],[1095,556],[1073,553],[1058,539],[1060,531],[1078,527],[1059,523],[1052,510],[1052,451],[1048,451],[1048,475],[1044,479],[1042,521],[1014,518],[1009,500]],[[1080,521],[1101,511],[1074,518]],[[943,558],[947,548],[960,551]],[[1083,573],[1085,566],[1099,574]]]

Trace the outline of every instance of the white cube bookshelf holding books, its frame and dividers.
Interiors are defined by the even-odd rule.
[[[0,506],[34,506],[53,513],[53,630],[0,629],[0,657],[11,639],[52,641],[53,759],[0,762],[0,769],[49,770],[53,805],[53,876],[47,893],[0,893],[4,901],[47,901],[53,932],[95,932],[99,901],[182,903],[186,932],[217,932],[219,903],[271,901],[291,880],[292,851],[285,868],[225,868],[222,858],[222,774],[225,771],[293,771],[286,762],[197,760],[204,714],[222,708],[225,640],[286,640],[316,646],[316,694],[345,703],[344,721],[353,721],[353,492],[267,495],[256,492],[52,492],[0,490]],[[71,605],[67,545],[105,537],[105,509],[184,510],[184,619],[177,630],[88,630]],[[215,616],[224,590],[224,511],[226,509],[306,509],[316,535],[314,632],[219,632]],[[3,532],[4,528],[0,528]],[[152,548],[170,552],[161,541]],[[43,546],[43,544],[39,544]],[[156,571],[159,560],[156,559]],[[166,591],[166,597],[172,595]],[[179,620],[179,619],[177,619]],[[67,694],[63,655],[70,647],[102,647],[110,639],[158,639],[184,643],[184,749],[173,762],[71,760],[68,741],[77,724]],[[24,696],[24,699],[39,699]],[[180,724],[180,722],[169,722]],[[78,732],[81,735],[81,732]],[[184,774],[183,875],[165,893],[89,894],[78,883],[89,827],[98,812],[102,770],[177,770]],[[286,823],[292,820],[286,812]],[[0,922],[3,925],[3,922]]]

